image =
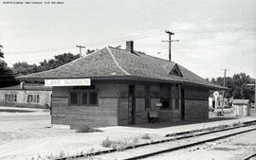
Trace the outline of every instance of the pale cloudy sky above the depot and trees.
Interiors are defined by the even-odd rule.
[[[172,61],[197,75],[216,78],[227,68],[227,76],[244,72],[256,78],[255,0],[35,1],[43,4],[0,0],[0,44],[10,67],[78,54],[76,44],[124,48],[131,40],[136,50],[168,60],[168,43],[162,42],[168,29],[179,40],[172,44]]]

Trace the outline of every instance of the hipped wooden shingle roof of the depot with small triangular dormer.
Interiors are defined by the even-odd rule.
[[[170,72],[178,67],[182,77]],[[19,80],[77,79],[92,80],[154,80],[163,82],[192,83],[214,89],[226,89],[195,75],[175,63],[140,53],[107,46],[88,56],[68,62],[58,68],[34,73]]]

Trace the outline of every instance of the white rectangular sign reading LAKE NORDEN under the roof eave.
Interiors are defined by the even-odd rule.
[[[46,86],[88,86],[91,85],[91,79],[59,79],[45,80]]]

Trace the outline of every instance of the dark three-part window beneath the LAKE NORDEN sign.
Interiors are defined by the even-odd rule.
[[[97,90],[72,90],[69,94],[69,105],[71,106],[98,106]]]

